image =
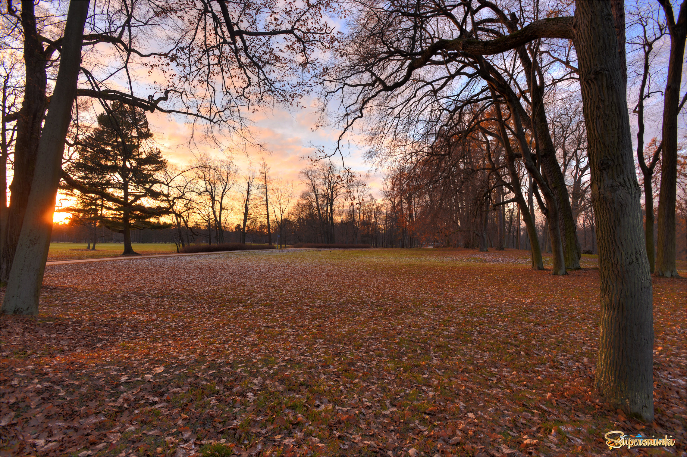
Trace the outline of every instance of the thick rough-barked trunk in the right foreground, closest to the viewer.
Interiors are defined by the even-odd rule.
[[[628,414],[651,421],[651,275],[610,3],[576,2],[573,28],[598,235],[601,334],[596,388]]]

